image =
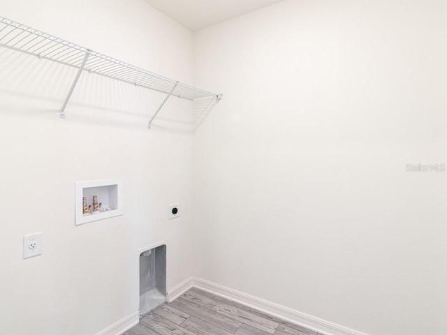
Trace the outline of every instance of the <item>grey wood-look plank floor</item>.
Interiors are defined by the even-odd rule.
[[[191,288],[124,335],[319,335],[235,301]]]

